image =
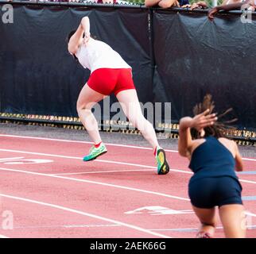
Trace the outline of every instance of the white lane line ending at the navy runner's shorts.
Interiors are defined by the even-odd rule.
[[[138,189],[138,188],[125,187],[122,185],[116,185],[116,184],[111,184],[111,183],[100,183],[100,182],[90,181],[90,180],[86,180],[86,179],[76,179],[76,178],[71,178],[71,177],[66,177],[66,176],[61,176],[61,175],[50,175],[50,174],[37,173],[37,172],[32,172],[32,171],[22,171],[22,170],[17,170],[17,169],[10,169],[10,168],[5,168],[5,167],[0,167],[0,171],[12,171],[12,172],[24,173],[24,174],[29,174],[29,175],[40,175],[40,176],[52,177],[52,178],[56,178],[56,179],[66,179],[66,180],[80,182],[80,183],[98,184],[98,185],[102,185],[102,186],[114,187],[114,188],[128,190],[128,191],[138,191],[138,192],[142,192],[142,193],[146,193],[146,194],[154,194],[154,195],[162,196],[165,198],[175,198],[175,199],[186,200],[186,201],[190,200],[188,198],[181,198],[181,197],[164,194],[164,193],[156,192],[156,191],[145,191],[145,190]]]

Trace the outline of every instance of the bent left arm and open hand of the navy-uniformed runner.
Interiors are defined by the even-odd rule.
[[[190,129],[194,128],[201,132],[205,127],[213,125],[217,121],[215,114],[208,114],[209,110],[205,110],[202,114],[195,117],[183,117],[180,119],[178,151],[180,156],[189,157],[192,148],[192,137]]]

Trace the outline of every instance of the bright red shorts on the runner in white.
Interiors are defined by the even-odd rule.
[[[100,68],[91,73],[87,84],[104,95],[118,94],[122,90],[135,89],[131,69]]]

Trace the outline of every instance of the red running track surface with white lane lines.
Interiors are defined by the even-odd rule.
[[[0,237],[196,234],[199,222],[187,194],[192,173],[176,151],[167,151],[170,173],[157,175],[149,148],[109,144],[106,155],[85,163],[88,142],[0,138]],[[256,159],[244,163],[248,173],[256,171]],[[249,199],[244,201],[250,212],[247,237],[256,237],[256,175],[240,179]],[[215,237],[223,237],[218,227]]]

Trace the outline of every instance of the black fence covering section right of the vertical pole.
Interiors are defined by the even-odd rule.
[[[240,127],[256,128],[256,28],[241,13],[209,21],[202,13],[153,15],[156,100],[172,102],[172,117],[192,115],[192,107],[212,94],[217,112],[232,107]]]

